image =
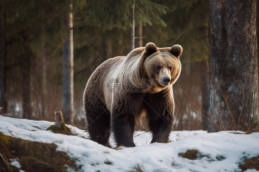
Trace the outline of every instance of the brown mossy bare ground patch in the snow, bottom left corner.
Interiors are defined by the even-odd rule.
[[[5,155],[7,161],[17,159],[21,169],[27,172],[66,171],[67,167],[77,171],[81,168],[76,166],[75,161],[71,160],[66,152],[57,152],[55,144],[22,140],[5,136],[0,132],[0,146],[4,148],[0,149],[0,152]],[[16,167],[5,165],[3,158],[0,158],[0,164],[5,171],[18,171]]]

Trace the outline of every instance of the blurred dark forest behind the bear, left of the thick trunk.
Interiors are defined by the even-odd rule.
[[[1,102],[5,116],[54,120],[62,109],[64,16],[73,15],[74,124],[85,128],[83,91],[103,59],[135,48],[180,44],[182,71],[173,85],[175,130],[207,130],[209,0],[2,0]],[[71,11],[72,10],[72,11]],[[28,112],[27,112],[28,113]],[[140,122],[137,130],[145,130]]]

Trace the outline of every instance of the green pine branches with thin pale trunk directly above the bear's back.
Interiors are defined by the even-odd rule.
[[[131,50],[135,48],[135,22],[143,26],[166,26],[160,18],[161,14],[166,13],[166,7],[150,0],[91,1],[88,9],[89,16],[96,26],[106,29],[130,28]]]

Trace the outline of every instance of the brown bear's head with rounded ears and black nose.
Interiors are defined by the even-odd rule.
[[[159,92],[175,83],[181,72],[179,57],[183,52],[180,45],[158,48],[154,43],[148,43],[142,54],[145,71],[153,81],[153,91]]]

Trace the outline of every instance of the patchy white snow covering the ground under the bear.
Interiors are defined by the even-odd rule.
[[[65,151],[82,165],[82,171],[136,171],[143,172],[208,172],[241,171],[239,164],[245,158],[259,155],[259,133],[244,134],[241,131],[172,131],[170,143],[153,143],[151,134],[134,133],[136,147],[120,147],[120,150],[102,146],[88,137],[84,130],[67,125],[76,136],[55,134],[46,131],[54,122],[32,121],[0,116],[0,132],[5,135],[43,143],[55,143],[58,151]],[[111,144],[115,146],[111,138]],[[178,155],[195,149],[198,158],[190,160]],[[220,159],[220,160],[219,160]],[[18,167],[17,161],[11,162]],[[111,164],[105,164],[110,162]],[[249,169],[247,172],[256,170]]]

